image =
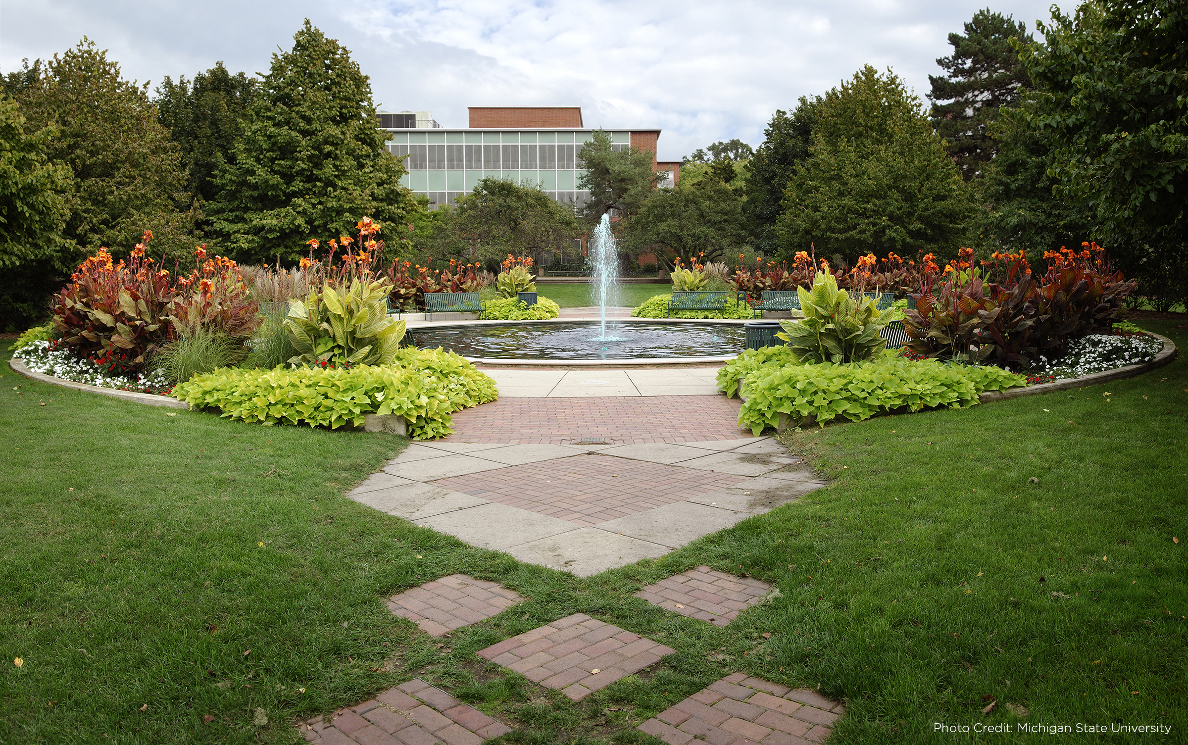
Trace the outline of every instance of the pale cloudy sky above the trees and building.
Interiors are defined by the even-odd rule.
[[[126,77],[265,72],[309,18],[352,50],[386,111],[466,126],[467,106],[581,106],[587,126],[662,127],[661,159],[763,140],[777,108],[862,64],[923,97],[948,33],[986,0],[0,0],[0,71],[83,36]],[[1035,29],[1047,0],[993,10]],[[1075,2],[1059,2],[1066,12]]]

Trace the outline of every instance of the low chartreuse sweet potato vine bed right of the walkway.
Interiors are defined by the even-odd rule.
[[[824,427],[839,416],[860,422],[879,412],[972,406],[981,393],[1026,385],[1026,379],[1000,367],[898,356],[798,365],[788,347],[769,347],[740,354],[719,371],[718,385],[727,394],[746,397],[739,424],[758,435],[778,427],[781,415]]]

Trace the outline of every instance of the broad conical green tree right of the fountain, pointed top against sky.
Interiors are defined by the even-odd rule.
[[[866,65],[829,91],[810,156],[789,179],[777,221],[789,255],[814,244],[851,261],[883,251],[956,254],[969,190],[893,72]]]

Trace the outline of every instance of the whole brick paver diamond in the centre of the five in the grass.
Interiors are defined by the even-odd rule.
[[[671,654],[672,649],[663,644],[584,613],[567,615],[479,651],[480,657],[560,689],[574,701]]]

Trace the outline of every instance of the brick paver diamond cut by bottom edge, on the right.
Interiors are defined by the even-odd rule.
[[[840,702],[816,692],[792,690],[735,673],[638,728],[668,745],[687,745],[694,739],[710,745],[810,745],[829,737],[842,713]]]

